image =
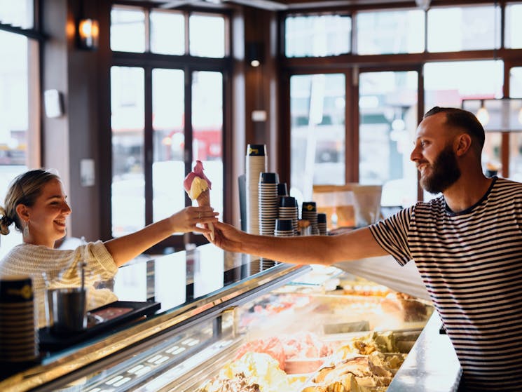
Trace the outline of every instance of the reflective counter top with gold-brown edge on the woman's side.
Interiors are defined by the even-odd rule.
[[[269,291],[308,269],[224,252],[214,245],[203,245],[195,253],[177,252],[123,266],[114,281],[118,299],[153,300],[161,302],[161,309],[67,349],[41,353],[38,365],[0,379],[0,391],[24,392],[43,384],[48,384],[43,390],[55,390],[52,383],[60,377],[69,377],[191,320],[213,318],[252,292]]]

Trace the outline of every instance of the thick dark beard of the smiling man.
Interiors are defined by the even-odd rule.
[[[444,147],[430,168],[432,173],[420,178],[420,186],[425,191],[438,194],[455,184],[461,173],[451,144]]]

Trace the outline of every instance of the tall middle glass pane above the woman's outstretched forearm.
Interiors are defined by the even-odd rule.
[[[152,70],[154,222],[185,206],[184,81],[180,69]]]

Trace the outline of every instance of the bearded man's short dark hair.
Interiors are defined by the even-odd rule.
[[[484,134],[484,128],[482,124],[476,118],[476,116],[470,111],[458,109],[457,107],[436,106],[427,111],[424,115],[424,118],[438,113],[446,114],[446,124],[448,124],[448,126],[460,128],[472,137],[474,142],[474,149],[480,156],[482,148],[484,147],[484,140],[486,140],[486,135]]]

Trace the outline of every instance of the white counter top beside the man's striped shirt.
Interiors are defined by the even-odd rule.
[[[434,312],[387,392],[458,390],[462,369],[449,337],[439,333],[440,327],[439,314]]]

